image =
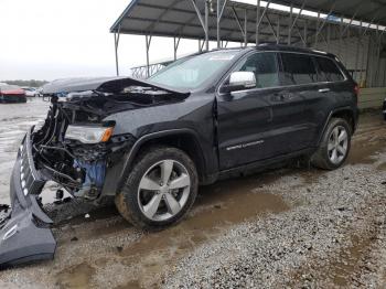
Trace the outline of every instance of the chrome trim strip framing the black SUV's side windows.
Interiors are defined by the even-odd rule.
[[[255,54],[255,53],[292,53],[292,54],[303,54],[303,55],[309,55],[309,56],[313,56],[313,57],[324,57],[331,61],[331,57],[329,56],[324,56],[324,55],[315,55],[312,53],[308,53],[308,52],[292,52],[292,51],[253,51],[250,53],[247,53],[246,55],[244,55],[244,57],[242,57],[240,60],[237,61],[237,63],[235,63],[235,66],[244,61],[246,57],[249,57],[250,55]],[[323,85],[323,84],[339,84],[339,83],[344,83],[346,82],[349,78],[345,75],[345,73],[342,71],[342,68],[336,65],[336,63],[334,61],[332,61],[334,63],[334,65],[337,67],[337,69],[341,72],[341,74],[343,75],[344,79],[343,81],[339,81],[339,82],[318,82],[318,83],[309,83],[309,84],[292,84],[292,85],[280,85],[280,86],[271,86],[271,87],[260,87],[260,88],[249,88],[249,89],[243,89],[243,90],[235,90],[232,92],[233,94],[242,94],[242,93],[246,93],[246,92],[257,92],[257,90],[267,90],[267,89],[278,89],[278,88],[293,88],[293,87],[302,87],[302,86],[310,86],[310,85]],[[315,67],[317,68],[317,67]],[[216,89],[216,94],[218,96],[223,96],[226,94],[222,94],[221,87],[224,85],[224,83],[226,82],[226,79],[229,77],[229,75],[235,71],[235,67],[233,67],[227,74],[226,77],[224,77],[224,79],[221,82],[221,84],[217,86]]]

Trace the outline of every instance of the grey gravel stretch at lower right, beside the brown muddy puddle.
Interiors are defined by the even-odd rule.
[[[268,190],[292,210],[234,226],[176,263],[164,286],[384,288],[386,174],[375,168],[386,153],[376,158],[307,185],[318,172],[280,178]]]

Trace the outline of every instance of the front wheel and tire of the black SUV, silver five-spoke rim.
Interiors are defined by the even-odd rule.
[[[163,228],[179,222],[197,194],[199,178],[189,156],[152,147],[139,156],[116,196],[119,213],[137,227]]]

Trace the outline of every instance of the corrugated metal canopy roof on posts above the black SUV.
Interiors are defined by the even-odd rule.
[[[216,1],[212,2],[210,6],[212,11],[208,13],[208,39],[213,41],[217,39],[217,4]],[[224,0],[221,1],[221,3],[223,2]],[[304,10],[324,14],[344,15],[345,18],[354,18],[358,21],[386,24],[386,0],[305,0],[303,2],[304,0],[274,0],[271,4],[292,4],[293,8],[300,9],[303,7]],[[195,0],[195,3],[203,20],[205,17],[205,0]],[[260,15],[264,10],[264,8],[260,8]],[[244,41],[244,20],[247,18],[247,41],[255,42],[256,14],[256,6],[228,0],[219,24],[221,40]],[[290,19],[289,13],[286,11],[268,9],[267,13],[261,18],[259,38],[264,42],[276,42],[278,31],[280,40],[288,38],[289,25],[293,23],[294,18],[297,18],[297,13],[293,13],[293,18]],[[309,19],[308,24],[304,19]],[[300,15],[292,29],[292,43],[300,42],[302,35],[304,36],[304,25],[308,25],[307,31],[310,33],[310,36],[314,35],[315,31],[320,29],[323,19],[320,19],[319,22],[317,21],[317,18]],[[329,19],[329,22],[337,24],[336,20],[330,21]],[[111,26],[110,31],[120,34],[175,36],[183,39],[205,38],[202,21],[197,17],[191,0],[132,0]]]

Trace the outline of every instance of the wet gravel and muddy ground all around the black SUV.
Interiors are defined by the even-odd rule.
[[[0,106],[0,203],[19,141],[46,109]],[[367,113],[343,168],[290,164],[201,188],[187,217],[158,233],[114,206],[85,217],[79,203],[66,221],[76,204],[60,207],[55,259],[0,271],[0,288],[386,288],[385,144],[380,111]]]

